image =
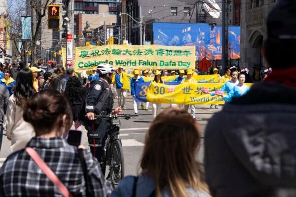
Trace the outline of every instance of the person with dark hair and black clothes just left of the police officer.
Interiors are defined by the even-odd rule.
[[[67,97],[72,109],[75,130],[79,131],[81,131],[81,124],[79,119],[81,117],[80,114],[82,112],[82,108],[84,107],[84,92],[85,88],[82,86],[77,77],[71,77],[68,80],[64,94]],[[66,137],[67,135],[68,132],[65,133],[64,137]]]

